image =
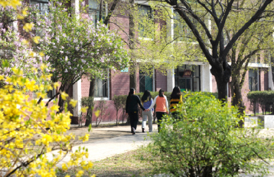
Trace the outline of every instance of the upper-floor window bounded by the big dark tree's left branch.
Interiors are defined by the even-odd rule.
[[[193,34],[191,29],[187,26],[177,11],[174,10],[173,15],[174,39],[177,38],[179,41],[187,40],[193,42]]]

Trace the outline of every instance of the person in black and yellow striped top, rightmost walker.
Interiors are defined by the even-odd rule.
[[[183,102],[183,99],[182,99],[181,90],[179,86],[175,86],[170,95],[170,113],[172,117],[175,118],[176,120],[179,120],[178,112],[176,112],[177,106],[179,103],[182,103],[182,102]]]

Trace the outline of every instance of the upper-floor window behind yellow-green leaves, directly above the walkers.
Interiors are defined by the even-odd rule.
[[[147,5],[139,5],[138,9],[140,13],[138,35],[139,37],[153,39],[153,10]]]

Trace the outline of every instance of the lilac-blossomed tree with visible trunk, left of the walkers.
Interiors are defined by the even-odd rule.
[[[62,2],[51,1],[49,7],[50,14],[37,18],[36,32],[41,34],[41,39],[36,48],[44,51],[53,82],[61,83],[50,100],[61,92],[68,93],[83,75],[102,78],[107,69],[126,67],[128,57],[121,38],[104,24],[95,26],[92,18],[82,13],[80,18],[71,15],[74,7]],[[59,99],[60,111],[63,103]]]

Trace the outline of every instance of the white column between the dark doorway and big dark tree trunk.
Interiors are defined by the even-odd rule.
[[[209,63],[201,65],[201,91],[212,92],[212,76]]]

